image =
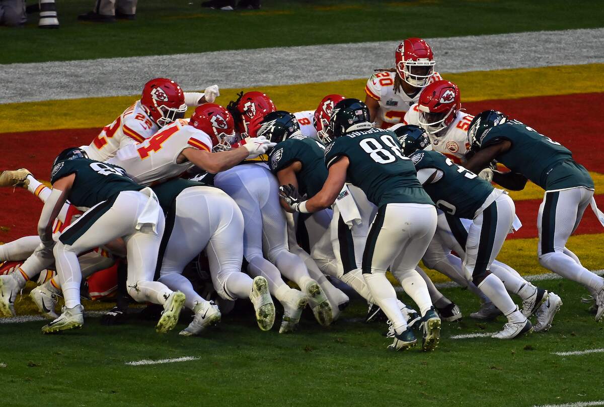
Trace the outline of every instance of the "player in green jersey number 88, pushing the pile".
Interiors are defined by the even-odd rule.
[[[374,300],[391,321],[390,349],[408,349],[417,339],[386,278],[389,267],[420,308],[423,350],[433,350],[439,342],[440,318],[415,268],[434,236],[434,203],[417,181],[413,163],[402,155],[396,135],[371,127],[364,103],[344,99],[336,104],[329,128],[335,140],[326,149],[329,174],[321,191],[306,200],[297,189],[282,186],[281,196],[295,212],[313,213],[333,204],[346,180],[365,192],[378,209],[365,244],[362,271]]]

